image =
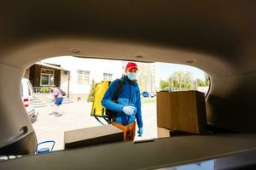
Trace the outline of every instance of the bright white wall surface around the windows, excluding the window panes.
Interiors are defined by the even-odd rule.
[[[72,56],[44,59],[43,62],[61,65],[62,68],[70,71],[70,94],[89,94],[92,79],[96,82],[103,80],[103,73],[113,74],[113,80],[122,76],[122,61],[110,59],[82,59]],[[89,85],[77,83],[77,71],[90,71]],[[63,78],[61,73],[61,87],[67,88],[67,77]],[[62,84],[63,83],[63,84]]]

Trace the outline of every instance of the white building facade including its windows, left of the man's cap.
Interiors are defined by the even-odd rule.
[[[51,65],[61,65],[70,72],[69,93],[72,95],[89,94],[91,82],[112,81],[122,76],[122,62],[111,59],[84,59],[72,56],[44,59]],[[67,89],[67,78],[61,75],[61,89]]]

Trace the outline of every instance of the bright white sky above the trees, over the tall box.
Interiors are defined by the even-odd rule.
[[[167,80],[174,71],[191,71],[194,79],[205,80],[205,72],[189,65],[177,65],[169,63],[157,63],[160,68],[160,79]]]

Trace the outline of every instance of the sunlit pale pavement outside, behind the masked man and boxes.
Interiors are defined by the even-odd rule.
[[[38,143],[44,140],[55,140],[55,150],[64,149],[64,132],[84,127],[101,126],[93,116],[90,116],[91,104],[75,101],[62,105],[61,114],[54,113],[53,106],[38,108],[38,121],[33,123]],[[156,138],[156,104],[143,105],[143,137],[140,139]]]

